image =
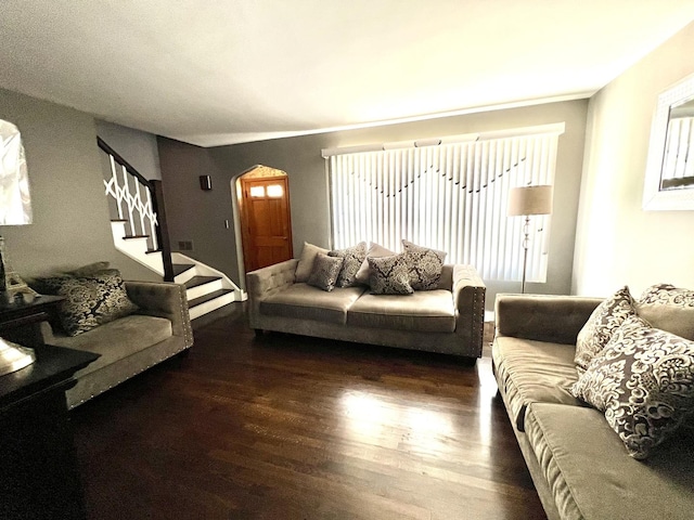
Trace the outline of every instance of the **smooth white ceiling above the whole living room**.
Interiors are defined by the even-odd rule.
[[[0,87],[201,146],[593,94],[694,0],[2,0]]]

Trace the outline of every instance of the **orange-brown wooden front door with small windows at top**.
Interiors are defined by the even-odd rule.
[[[246,272],[293,258],[286,176],[241,178],[243,256]]]

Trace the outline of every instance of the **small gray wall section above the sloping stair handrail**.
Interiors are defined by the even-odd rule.
[[[97,134],[145,179],[162,179],[156,135],[100,119],[95,123]]]

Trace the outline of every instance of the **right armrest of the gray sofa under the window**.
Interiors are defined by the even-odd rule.
[[[455,303],[455,334],[481,355],[485,327],[485,296],[487,287],[472,265],[453,265],[453,302]]]

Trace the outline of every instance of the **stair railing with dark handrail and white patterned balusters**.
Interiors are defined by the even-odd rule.
[[[124,238],[147,237],[147,252],[160,252],[164,280],[174,282],[162,181],[147,180],[101,138],[99,147],[108,156],[111,177],[104,179],[106,196],[115,203],[118,220],[127,221],[129,234]]]

